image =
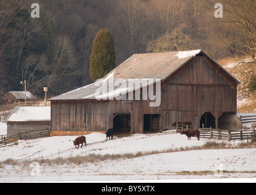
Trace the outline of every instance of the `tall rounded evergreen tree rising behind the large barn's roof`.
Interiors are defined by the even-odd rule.
[[[101,29],[93,41],[92,55],[90,55],[90,77],[95,82],[114,68],[114,38],[108,29]]]

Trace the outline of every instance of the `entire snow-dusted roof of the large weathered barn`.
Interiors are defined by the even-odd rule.
[[[145,80],[147,79],[161,79],[165,80],[174,74],[183,65],[193,59],[196,55],[207,55],[202,49],[192,51],[177,51],[177,52],[163,52],[163,53],[148,53],[148,54],[134,54],[125,62],[121,63],[117,68],[113,69],[109,74],[103,77],[102,80],[108,79],[123,79],[128,80]],[[208,56],[208,55],[207,55]],[[209,56],[208,56],[209,57]],[[211,57],[209,57],[211,59]],[[213,59],[211,59],[213,60]],[[214,61],[214,60],[213,60]],[[215,61],[214,61],[215,62]],[[218,66],[222,68],[217,62]],[[232,79],[235,79],[230,73],[222,68]],[[236,80],[236,79],[235,79]],[[238,82],[238,80],[236,80]],[[239,83],[239,82],[238,82]],[[128,85],[127,85],[128,86]],[[95,98],[95,91],[100,87],[98,82],[60,94],[50,101],[59,100],[82,100],[82,99],[97,99]],[[133,91],[136,88],[121,88],[115,87],[114,90],[119,89],[118,93],[126,91]],[[104,96],[104,94],[103,94]],[[104,99],[104,97],[103,97]]]

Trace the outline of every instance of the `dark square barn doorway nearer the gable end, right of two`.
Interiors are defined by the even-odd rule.
[[[159,130],[159,115],[144,115],[144,132]]]

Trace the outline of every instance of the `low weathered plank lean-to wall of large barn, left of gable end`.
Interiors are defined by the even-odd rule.
[[[115,114],[130,114],[131,132],[143,132],[147,101],[51,101],[51,130],[103,131],[113,127]],[[159,108],[147,113],[160,113]],[[153,113],[155,114],[155,113]]]

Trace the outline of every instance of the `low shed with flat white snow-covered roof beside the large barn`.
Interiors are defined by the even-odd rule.
[[[5,120],[7,135],[18,132],[50,129],[51,107],[15,107]]]

